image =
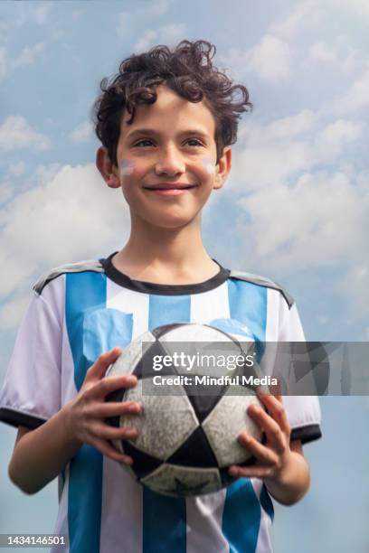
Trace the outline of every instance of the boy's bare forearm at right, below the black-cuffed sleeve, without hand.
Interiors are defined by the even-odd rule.
[[[307,492],[310,473],[305,458],[292,451],[289,464],[278,481],[264,479],[270,495],[283,505],[293,505]]]

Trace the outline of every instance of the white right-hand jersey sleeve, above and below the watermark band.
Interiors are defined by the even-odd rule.
[[[305,342],[296,304],[289,309],[287,302],[281,300],[279,322],[279,342]],[[284,396],[283,404],[291,426],[291,441],[301,440],[306,444],[322,436],[317,396]]]

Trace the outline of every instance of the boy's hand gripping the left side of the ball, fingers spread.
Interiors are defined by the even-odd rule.
[[[120,353],[120,348],[102,353],[86,372],[78,395],[64,408],[68,430],[80,445],[93,445],[110,459],[132,464],[132,457],[119,453],[109,440],[134,439],[138,435],[137,428],[114,428],[104,422],[108,417],[117,417],[123,413],[139,414],[141,411],[139,403],[135,401],[105,402],[105,396],[111,391],[133,388],[137,384],[137,377],[134,375],[104,378],[110,364],[116,361]]]

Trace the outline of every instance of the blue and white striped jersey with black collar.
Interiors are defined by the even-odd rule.
[[[294,300],[267,278],[218,264],[218,274],[199,284],[147,283],[118,271],[116,253],[57,267],[33,286],[0,392],[0,420],[42,425],[77,395],[102,352],[125,348],[162,324],[223,320],[260,342],[305,340]],[[283,400],[291,439],[307,443],[321,436],[317,397]],[[67,534],[69,545],[55,553],[272,551],[273,503],[258,478],[176,499],[144,488],[84,444],[58,483],[54,531]]]

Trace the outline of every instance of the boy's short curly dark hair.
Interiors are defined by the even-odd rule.
[[[123,60],[110,83],[107,78],[101,80],[102,94],[93,104],[92,120],[96,135],[114,165],[118,166],[117,146],[124,109],[131,114],[128,120],[131,125],[139,104],[156,102],[159,85],[166,85],[191,102],[203,100],[210,109],[215,120],[216,164],[219,163],[224,146],[237,140],[240,114],[251,109],[252,104],[246,87],[232,86],[232,80],[213,67],[212,50],[214,55],[216,48],[207,41],[182,41],[172,52],[167,46],[158,45]],[[241,99],[232,101],[237,90]]]

